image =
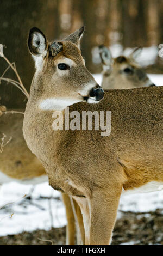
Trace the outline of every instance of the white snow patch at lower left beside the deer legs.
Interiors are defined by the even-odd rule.
[[[24,197],[26,194],[27,198],[31,195],[30,200]],[[47,182],[36,186],[4,184],[0,193],[0,236],[66,225],[65,208],[59,197],[60,193]]]

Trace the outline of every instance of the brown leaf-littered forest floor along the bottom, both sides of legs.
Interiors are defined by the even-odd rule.
[[[0,245],[65,245],[66,229],[24,231],[0,237]],[[162,211],[121,212],[117,220],[112,245],[163,245]]]

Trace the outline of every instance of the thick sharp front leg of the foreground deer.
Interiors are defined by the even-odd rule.
[[[93,191],[81,207],[85,227],[85,245],[109,245],[115,225],[121,189]]]

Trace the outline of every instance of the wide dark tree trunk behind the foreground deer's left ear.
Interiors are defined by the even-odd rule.
[[[0,43],[5,45],[5,56],[10,62],[15,62],[22,82],[29,92],[34,74],[34,62],[28,52],[27,36],[29,29],[39,27],[46,35],[54,39],[57,31],[57,2],[43,0],[1,0],[0,8]],[[55,17],[56,15],[56,17]],[[55,26],[53,26],[53,24]],[[50,28],[50,29],[49,29]],[[53,30],[53,33],[52,33]],[[57,33],[55,33],[55,30]],[[7,64],[0,58],[0,75],[7,68]],[[9,70],[6,77],[15,78],[14,72]],[[2,82],[0,86],[1,103],[7,107],[20,108],[26,105],[26,98],[20,90],[11,84]]]

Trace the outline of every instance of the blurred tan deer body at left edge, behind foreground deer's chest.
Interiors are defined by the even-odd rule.
[[[42,164],[28,149],[24,141],[22,133],[23,114],[3,114],[0,117],[0,125],[0,138],[3,137],[3,134],[6,136],[4,144],[11,137],[10,142],[0,153],[0,184],[14,180],[24,184],[47,181],[47,175]]]

